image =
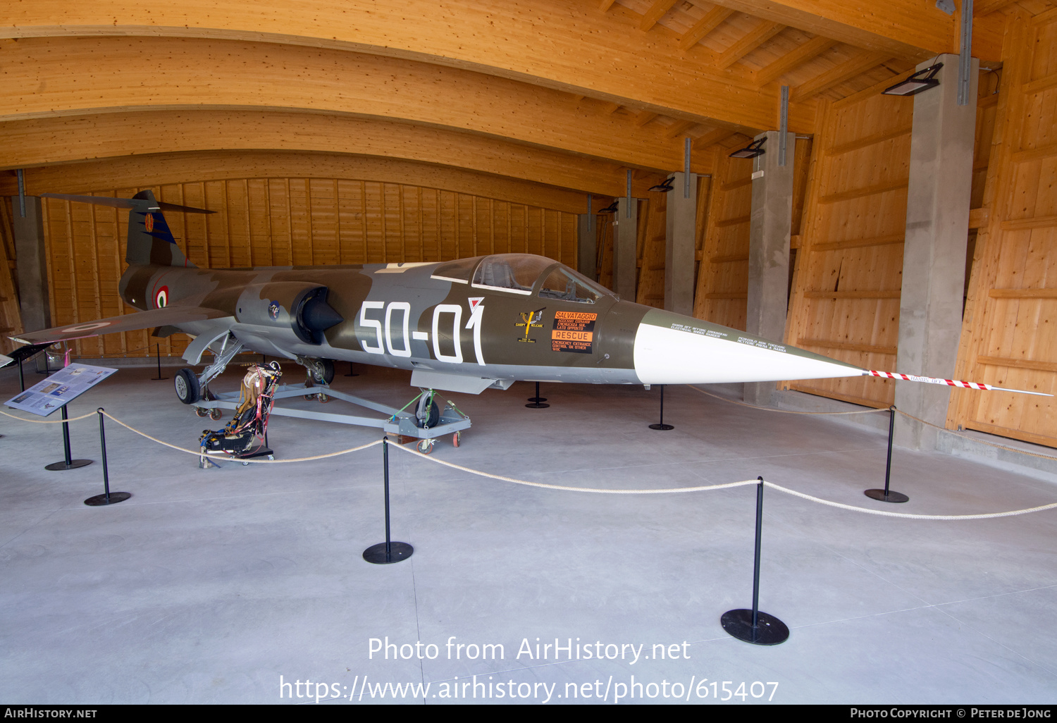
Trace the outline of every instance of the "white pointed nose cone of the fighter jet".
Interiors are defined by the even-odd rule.
[[[803,349],[654,310],[635,334],[635,374],[643,384],[724,384],[861,376],[864,370]]]

